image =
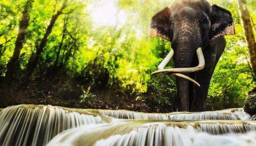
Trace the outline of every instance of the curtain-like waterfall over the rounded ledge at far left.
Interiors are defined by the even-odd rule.
[[[75,110],[77,111],[77,110]],[[51,105],[17,105],[0,112],[0,145],[46,145],[60,132],[85,124],[102,123],[100,116]]]

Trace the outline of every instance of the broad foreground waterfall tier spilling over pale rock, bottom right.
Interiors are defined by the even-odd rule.
[[[242,143],[254,145],[255,130],[256,122],[244,121],[127,120],[65,131],[57,135],[48,146],[204,146],[207,141],[203,141],[202,138],[217,140],[217,143],[211,143],[214,146]]]

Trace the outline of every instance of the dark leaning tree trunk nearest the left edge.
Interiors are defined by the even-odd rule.
[[[11,82],[16,69],[19,67],[19,55],[25,41],[27,27],[29,26],[29,9],[32,7],[33,1],[34,0],[27,0],[22,12],[22,18],[19,24],[19,33],[15,42],[14,53],[12,54],[10,62],[7,64],[7,71],[5,75],[6,82]]]

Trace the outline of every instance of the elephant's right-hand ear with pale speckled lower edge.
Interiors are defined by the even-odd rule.
[[[223,35],[234,35],[235,28],[231,13],[217,5],[211,7],[210,42]]]

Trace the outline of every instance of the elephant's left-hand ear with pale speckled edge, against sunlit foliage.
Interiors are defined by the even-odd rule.
[[[148,36],[161,37],[170,41],[170,15],[171,11],[169,7],[166,7],[162,11],[157,12],[157,14],[155,14],[151,19],[150,27],[148,30]]]

